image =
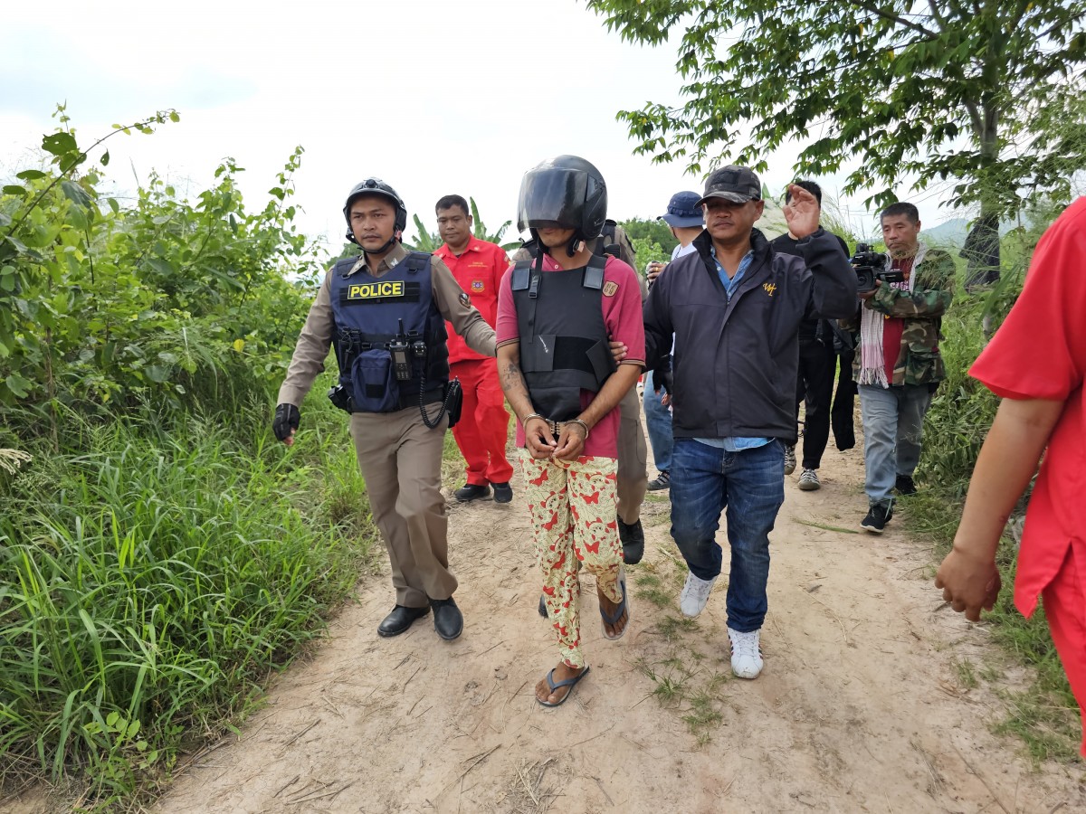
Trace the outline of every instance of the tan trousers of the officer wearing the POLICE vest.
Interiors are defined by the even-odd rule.
[[[432,420],[440,405],[429,405]],[[449,518],[441,494],[441,450],[449,418],[429,429],[418,407],[356,412],[351,434],[374,522],[389,551],[396,605],[425,608],[456,590],[449,570]]]

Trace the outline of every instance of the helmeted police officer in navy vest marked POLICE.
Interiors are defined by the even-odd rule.
[[[453,599],[441,451],[457,386],[449,382],[445,320],[480,354],[494,355],[487,325],[438,258],[401,244],[407,207],[377,178],[343,207],[357,258],[325,277],[279,389],[273,429],[292,444],[299,406],[336,348],[339,386],[329,397],[351,414],[358,466],[374,521],[389,551],[396,602],[377,632],[396,636],[433,609],[433,626],[455,639],[464,618]]]

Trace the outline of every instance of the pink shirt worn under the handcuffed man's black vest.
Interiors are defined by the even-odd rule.
[[[559,270],[550,255],[543,257],[543,271]],[[520,339],[517,327],[517,309],[513,302],[513,275],[505,272],[502,288],[497,295],[497,333],[498,347]],[[622,260],[608,256],[604,267],[604,294],[601,297],[604,314],[604,325],[611,340],[622,342],[627,346],[627,358],[623,365],[644,367],[645,363],[645,323],[641,311],[641,288],[636,272]],[[588,407],[595,393],[581,391],[581,409]],[[619,410],[616,407],[604,416],[584,442],[583,455],[603,458],[618,457]],[[517,420],[517,446],[525,445],[525,428]]]

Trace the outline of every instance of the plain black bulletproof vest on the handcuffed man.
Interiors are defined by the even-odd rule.
[[[532,409],[552,421],[581,415],[581,391],[598,393],[615,371],[602,307],[605,258],[584,268],[540,271],[513,267],[520,333],[520,370]]]

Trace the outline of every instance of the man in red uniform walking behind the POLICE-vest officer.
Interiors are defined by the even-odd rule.
[[[445,241],[434,252],[491,327],[497,320],[497,289],[509,267],[505,250],[471,233],[468,204],[459,195],[445,195],[434,207],[438,231]],[[509,414],[497,380],[497,360],[477,354],[449,327],[449,376],[460,380],[464,405],[453,428],[456,446],[467,462],[467,483],[453,493],[460,503],[489,497],[513,499],[513,467],[505,458]]]

